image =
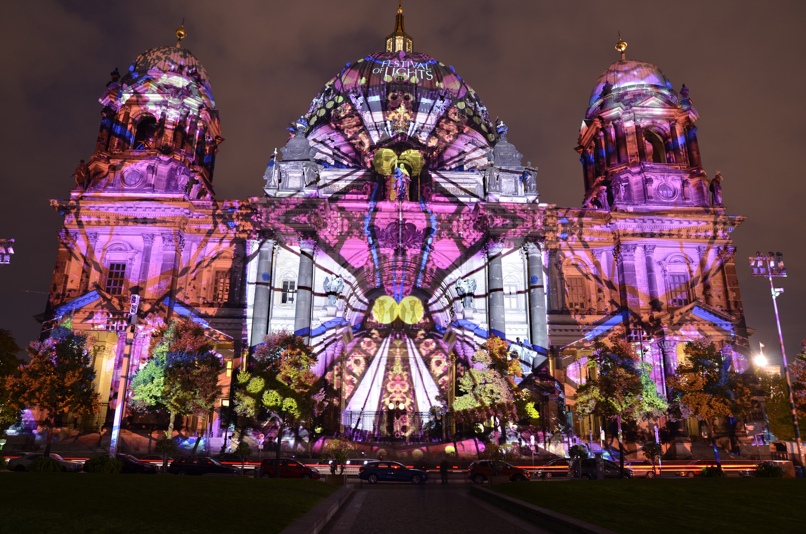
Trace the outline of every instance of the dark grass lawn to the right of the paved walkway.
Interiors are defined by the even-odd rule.
[[[510,482],[493,489],[623,534],[806,532],[806,481],[798,478]]]

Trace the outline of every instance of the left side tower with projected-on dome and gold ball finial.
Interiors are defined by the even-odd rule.
[[[118,69],[99,99],[104,106],[85,190],[74,194],[212,198],[218,144],[224,139],[210,78],[181,46],[140,54]],[[119,81],[118,81],[119,80]]]

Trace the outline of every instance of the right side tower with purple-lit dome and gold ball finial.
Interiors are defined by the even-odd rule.
[[[584,207],[652,211],[708,206],[688,88],[651,63],[621,60],[596,80],[580,128]]]

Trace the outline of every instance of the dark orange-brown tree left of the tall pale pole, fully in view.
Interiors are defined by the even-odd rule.
[[[48,414],[44,419],[48,427],[45,457],[50,457],[57,417],[69,412],[95,414],[100,409],[100,397],[93,389],[92,346],[91,338],[73,332],[73,319],[69,317],[53,328],[47,340],[31,341],[31,361],[19,366],[19,377],[9,378],[23,406],[36,406]]]

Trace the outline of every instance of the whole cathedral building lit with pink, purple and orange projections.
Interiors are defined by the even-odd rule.
[[[662,393],[699,336],[745,371],[731,240],[743,217],[726,214],[721,177],[702,168],[688,89],[621,44],[579,132],[580,207],[542,202],[505,123],[452,66],[415,51],[401,11],[382,50],[302,110],[251,198],[214,194],[224,138],[202,63],[181,42],[143,52],[112,73],[95,152],[69,198],[52,200],[64,227],[44,336],[69,314],[92,332],[98,391],[114,406],[149,333],[190,317],[226,361],[227,406],[263,337],[296,332],[328,384],[326,432],[412,441],[490,336],[545,390],[546,421],[568,418],[578,436],[590,423],[563,407],[614,328]],[[220,436],[218,420],[189,424]]]

